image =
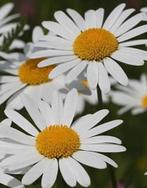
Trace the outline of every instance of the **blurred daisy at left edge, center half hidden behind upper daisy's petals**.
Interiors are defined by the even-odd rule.
[[[33,31],[33,42],[43,35],[41,28],[37,27]],[[0,65],[1,70],[9,75],[0,76],[0,104],[8,100],[7,107],[21,109],[23,104],[20,96],[23,93],[37,98],[43,98],[43,95],[49,93],[50,97],[54,90],[63,87],[63,79],[49,79],[48,74],[54,68],[53,65],[38,68],[37,64],[43,59],[29,59],[28,55],[32,51],[32,43],[25,48],[25,54],[5,54],[0,53],[3,63]],[[26,55],[26,56],[25,56]]]

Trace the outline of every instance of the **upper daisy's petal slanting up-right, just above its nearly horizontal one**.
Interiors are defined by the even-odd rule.
[[[135,29],[132,29],[128,32],[126,32],[125,34],[123,34],[122,36],[120,36],[118,38],[118,41],[119,42],[123,42],[123,41],[126,41],[128,39],[132,39],[138,35],[141,35],[143,33],[146,33],[147,32],[147,25],[142,25],[140,27],[137,27]]]

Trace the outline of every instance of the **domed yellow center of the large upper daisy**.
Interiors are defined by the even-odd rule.
[[[73,50],[80,59],[100,61],[118,49],[116,37],[105,29],[88,29],[74,41]]]

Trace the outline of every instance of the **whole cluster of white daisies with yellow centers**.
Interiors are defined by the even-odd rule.
[[[42,22],[47,34],[37,26],[31,42],[16,39],[12,52],[0,51],[0,104],[6,102],[7,117],[0,123],[1,184],[23,188],[41,177],[41,187],[50,188],[60,171],[68,186],[88,187],[83,165],[117,167],[104,153],[126,148],[105,132],[123,121],[105,122],[107,109],[79,114],[86,103],[97,106],[110,99],[122,106],[119,114],[147,111],[147,75],[128,80],[121,68],[147,60],[147,51],[138,47],[147,44],[140,37],[147,33],[147,24],[142,24],[147,9],[133,14],[125,6],[114,8],[106,20],[103,8],[85,12],[84,18],[73,9],[57,11],[55,21]],[[8,16],[12,8],[11,3],[0,8],[0,46],[17,24],[18,14]]]

